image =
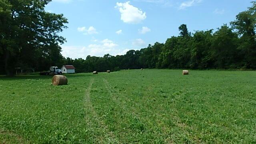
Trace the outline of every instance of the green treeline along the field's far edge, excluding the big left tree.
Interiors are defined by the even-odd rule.
[[[230,26],[224,24],[216,32],[191,33],[182,24],[180,36],[172,36],[164,44],[156,42],[121,56],[65,58],[64,63],[74,65],[76,72],[128,68],[256,69],[256,2],[252,4]]]

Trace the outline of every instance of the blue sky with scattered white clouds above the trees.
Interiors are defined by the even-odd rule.
[[[67,42],[62,55],[72,59],[113,56],[164,43],[186,24],[190,32],[216,30],[235,20],[252,0],[52,0],[45,10],[64,14]]]

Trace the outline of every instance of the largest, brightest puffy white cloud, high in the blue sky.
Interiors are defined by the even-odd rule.
[[[138,24],[146,19],[146,12],[130,5],[130,1],[124,3],[116,3],[115,8],[119,8],[121,20],[125,23]]]

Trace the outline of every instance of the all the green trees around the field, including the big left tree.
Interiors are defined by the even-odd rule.
[[[9,2],[9,11],[3,7],[4,2]],[[186,24],[182,24],[178,28],[179,36],[172,36],[165,43],[156,42],[141,50],[130,50],[124,55],[105,54],[103,57],[87,56],[85,59],[74,60],[60,54],[59,44],[63,44],[65,39],[57,34],[66,28],[64,24],[67,20],[63,15],[44,12],[44,5],[50,0],[40,1],[41,9],[34,10],[38,10],[38,13],[31,12],[40,15],[35,19],[30,18],[29,14],[18,14],[15,3],[10,3],[12,1],[4,2],[0,2],[0,62],[4,64],[0,66],[1,74],[11,73],[15,67],[41,71],[63,64],[74,65],[76,72],[128,68],[256,69],[255,1],[229,25],[224,24],[215,31],[212,29],[192,33],[188,32]],[[35,3],[31,5],[33,8]],[[26,19],[25,23],[23,18]],[[46,21],[41,22],[40,18]],[[10,22],[8,30],[6,21]],[[32,28],[26,24],[32,25]],[[40,31],[34,32],[36,28]],[[6,60],[6,57],[9,58]]]

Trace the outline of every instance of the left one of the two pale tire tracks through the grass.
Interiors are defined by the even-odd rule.
[[[90,84],[86,89],[86,94],[84,97],[84,108],[85,108],[85,119],[88,124],[88,130],[93,134],[93,139],[95,143],[119,143],[117,138],[112,132],[108,130],[108,127],[104,121],[97,114],[94,109],[92,102],[90,100],[90,91],[92,89],[92,84],[94,83],[94,78],[90,80]],[[96,130],[96,131],[95,131]]]

